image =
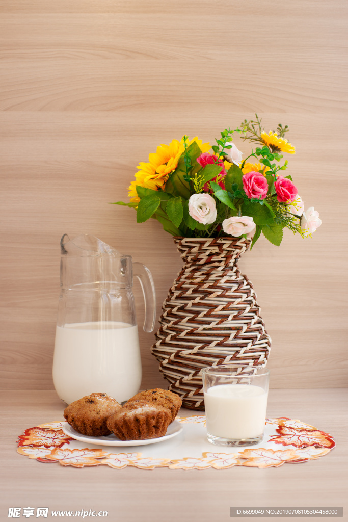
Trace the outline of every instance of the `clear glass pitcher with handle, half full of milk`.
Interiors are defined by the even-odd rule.
[[[94,236],[70,240],[63,235],[53,382],[67,404],[92,392],[107,393],[118,402],[138,392],[141,360],[133,276],[145,299],[143,329],[151,332],[156,296],[150,270]]]

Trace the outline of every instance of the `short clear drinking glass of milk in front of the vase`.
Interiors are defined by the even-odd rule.
[[[269,370],[221,364],[202,370],[208,441],[249,446],[262,441]]]

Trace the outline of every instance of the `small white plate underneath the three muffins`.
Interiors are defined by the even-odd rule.
[[[183,431],[183,426],[178,421],[173,421],[167,429],[163,437],[147,438],[142,441],[120,441],[113,433],[111,435],[101,435],[100,437],[89,437],[88,435],[81,435],[74,430],[67,422],[63,424],[62,430],[69,437],[75,438],[77,441],[88,442],[90,444],[99,444],[101,446],[143,446],[145,444],[155,444],[157,442],[167,441],[169,438],[175,437]]]

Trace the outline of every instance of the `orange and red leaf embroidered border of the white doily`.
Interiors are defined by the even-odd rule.
[[[183,424],[199,424],[205,426],[204,415],[177,417]],[[282,444],[287,449],[253,448],[238,453],[202,453],[201,457],[184,457],[167,459],[157,457],[142,457],[141,453],[107,453],[101,449],[70,449],[65,447],[70,441],[77,442],[62,431],[64,421],[47,422],[27,429],[18,438],[17,452],[30,459],[40,462],[59,462],[62,466],[107,465],[114,469],[124,469],[127,466],[139,469],[155,469],[168,467],[170,469],[227,469],[233,466],[249,466],[258,468],[279,467],[288,462],[299,464],[326,455],[335,446],[332,437],[314,426],[298,419],[279,417],[266,419],[266,424],[277,425],[276,434],[271,435],[269,442]],[[293,448],[289,448],[293,446]]]

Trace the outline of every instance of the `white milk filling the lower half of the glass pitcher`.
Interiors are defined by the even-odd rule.
[[[111,321],[57,326],[53,382],[67,404],[93,392],[128,400],[141,382],[138,327]]]

